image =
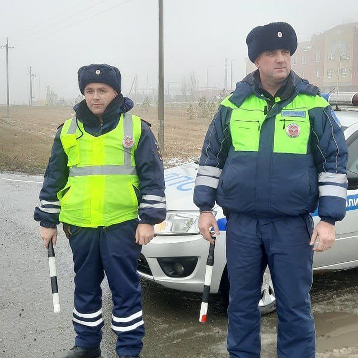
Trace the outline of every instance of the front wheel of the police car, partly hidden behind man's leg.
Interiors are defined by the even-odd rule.
[[[229,305],[229,291],[230,291],[230,283],[227,274],[227,267],[225,266],[225,269],[221,276],[220,292],[226,306]],[[271,313],[276,309],[274,286],[272,285],[269,269],[266,269],[266,271],[263,274],[261,299],[260,302],[258,303],[258,308],[260,309],[262,315]]]

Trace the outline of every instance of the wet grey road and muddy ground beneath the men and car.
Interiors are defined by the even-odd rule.
[[[0,357],[62,357],[73,346],[73,271],[68,241],[55,246],[61,312],[53,312],[47,251],[33,221],[42,177],[0,173]],[[226,307],[209,301],[199,323],[200,294],[142,281],[146,336],[141,358],[227,358]],[[103,358],[115,358],[112,300],[103,282]],[[311,290],[317,358],[358,358],[358,269],[315,275]],[[262,358],[275,358],[277,315],[262,317]]]

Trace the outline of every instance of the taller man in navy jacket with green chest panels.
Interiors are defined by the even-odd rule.
[[[329,249],[345,214],[347,147],[319,89],[290,66],[294,29],[270,23],[251,30],[248,56],[258,68],[221,102],[205,137],[195,182],[200,233],[219,233],[211,213],[224,209],[230,282],[230,357],[260,357],[263,272],[274,284],[279,358],[314,358],[309,291],[314,251]],[[319,203],[320,222],[310,216]],[[314,245],[318,240],[318,245]]]

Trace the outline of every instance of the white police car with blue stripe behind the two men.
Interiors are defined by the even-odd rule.
[[[357,94],[358,95],[358,94]],[[358,108],[355,108],[358,110]],[[358,267],[358,111],[337,110],[349,150],[347,213],[336,223],[333,248],[314,254],[314,270],[342,270]],[[171,289],[202,292],[209,242],[199,234],[198,208],[193,203],[197,163],[188,163],[165,170],[167,216],[155,226],[156,237],[143,246],[138,272],[145,279]],[[216,206],[214,213],[220,235],[216,239],[211,293],[228,295],[225,257],[226,218]],[[319,218],[312,214],[315,224]],[[269,271],[265,272],[259,303],[262,313],[275,309],[275,295]]]

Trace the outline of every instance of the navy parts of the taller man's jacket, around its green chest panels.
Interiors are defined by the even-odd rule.
[[[318,92],[318,87],[293,71],[276,93],[278,102],[262,89],[258,71],[237,83],[228,97],[235,106],[242,106],[252,95],[266,100],[261,101],[260,111],[266,117],[260,128],[259,149],[235,150],[230,131],[233,109],[221,105],[206,134],[195,181],[194,203],[200,211],[211,210],[216,201],[226,213],[277,218],[314,212],[319,202],[323,221],[334,224],[343,219],[348,150],[328,102],[326,107],[306,108],[310,130],[305,154],[273,150],[276,115],[282,115],[282,108],[296,96],[313,96],[321,104]]]

